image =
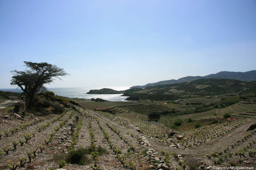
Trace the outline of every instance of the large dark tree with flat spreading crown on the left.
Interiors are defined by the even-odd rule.
[[[18,85],[27,96],[29,108],[33,106],[33,99],[35,93],[45,91],[44,84],[53,82],[53,78],[59,76],[66,76],[67,74],[63,68],[48,63],[32,63],[24,62],[27,67],[25,71],[13,70],[11,85]],[[60,79],[61,80],[61,79]]]

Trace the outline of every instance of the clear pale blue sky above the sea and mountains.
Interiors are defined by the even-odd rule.
[[[255,30],[255,0],[1,0],[0,88],[24,61],[94,89],[256,70]]]

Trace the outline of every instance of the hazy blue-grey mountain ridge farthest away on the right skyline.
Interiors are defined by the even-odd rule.
[[[206,76],[187,76],[180,78],[178,80],[165,80],[160,81],[156,83],[148,83],[144,86],[132,86],[131,88],[145,88],[148,86],[156,86],[161,84],[174,84],[174,83],[181,83],[181,82],[191,82],[193,80],[199,80],[199,79],[235,79],[245,82],[251,82],[253,80],[256,80],[256,70],[252,71],[246,71],[246,72],[233,72],[233,71],[221,71],[216,74],[209,74]]]

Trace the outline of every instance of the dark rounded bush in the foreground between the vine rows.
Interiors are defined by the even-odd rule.
[[[86,154],[90,154],[89,149],[73,150],[67,154],[67,163],[84,165],[89,163],[90,160]]]

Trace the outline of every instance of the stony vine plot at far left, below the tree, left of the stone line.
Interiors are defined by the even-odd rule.
[[[4,151],[4,154],[1,155],[3,157],[0,162],[1,166],[15,169],[17,166],[23,167],[25,163],[32,162],[34,158],[42,158],[44,154],[41,153],[49,151],[49,148],[52,147],[50,144],[56,143],[54,136],[59,136],[57,131],[67,128],[64,125],[67,124],[66,122],[71,122],[70,118],[72,115],[72,113],[67,114],[65,111],[60,116],[56,116],[46,123],[42,121],[42,124],[39,126],[31,125],[27,129],[18,131],[16,134],[1,138],[0,144],[3,146],[2,149]],[[58,124],[61,124],[63,127],[59,127],[57,130]],[[40,127],[44,128],[41,129]]]

